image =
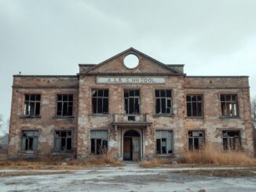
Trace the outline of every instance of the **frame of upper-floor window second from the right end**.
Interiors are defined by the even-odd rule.
[[[187,100],[187,96],[190,96],[190,101]],[[192,96],[196,96],[196,101],[192,101]],[[198,96],[201,96],[202,100],[198,100]],[[188,93],[186,94],[186,117],[187,118],[204,118],[204,96],[203,94],[193,94],[193,93]],[[196,103],[196,116],[193,115],[193,103]],[[199,111],[198,111],[198,103],[201,103],[201,111],[202,114],[199,115]],[[190,104],[191,107],[191,115],[188,115],[188,104]]]

